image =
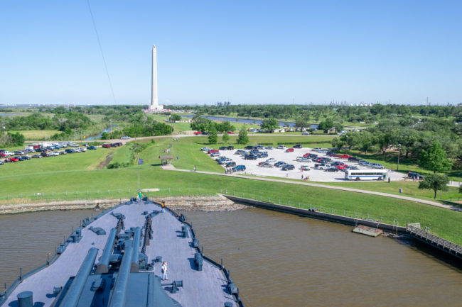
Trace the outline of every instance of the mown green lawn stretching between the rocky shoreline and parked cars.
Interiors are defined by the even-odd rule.
[[[234,138],[231,139],[231,144]],[[266,143],[267,140],[271,140],[275,144],[282,140],[289,141],[291,138],[300,139],[300,137],[265,135],[251,137],[251,143],[262,143],[263,141]],[[321,142],[326,137],[310,138]],[[311,206],[320,211],[372,218],[384,223],[397,221],[399,225],[405,225],[408,221],[419,222],[422,226],[429,226],[436,235],[462,244],[462,228],[460,227],[462,215],[455,211],[412,201],[390,199],[385,196],[296,184],[262,182],[244,176],[225,177],[195,172],[166,171],[159,166],[159,155],[163,155],[165,150],[170,149],[170,155],[175,157],[173,165],[177,168],[193,169],[193,166],[197,165],[198,170],[222,172],[220,166],[199,151],[200,147],[206,143],[207,138],[203,136],[178,138],[178,141],[173,141],[171,137],[157,138],[155,144],[149,143],[149,147],[140,154],[140,157],[144,159],[144,164],[141,165],[141,189],[159,188],[161,191],[150,194],[150,196],[159,198],[185,194],[227,193],[290,206],[299,206],[300,203],[303,208]],[[52,199],[119,199],[134,196],[138,185],[137,167],[97,169],[100,163],[106,160],[107,155],[112,155],[113,162],[124,162],[131,159],[129,146],[124,146],[110,150],[99,148],[95,151],[1,165],[0,203]],[[177,156],[179,160],[176,160]],[[367,186],[367,184],[370,183],[355,182],[350,186],[361,189],[384,189],[387,192],[398,187],[394,183],[387,185],[385,182],[374,183],[377,186]],[[378,186],[378,184],[382,185]],[[415,183],[404,184],[407,184],[404,186],[405,192],[407,189],[415,189]],[[41,193],[41,196],[34,196],[37,193]],[[421,193],[423,194],[420,196],[426,197],[426,194],[431,191],[424,190]]]

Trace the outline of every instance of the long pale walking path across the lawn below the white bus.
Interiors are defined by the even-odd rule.
[[[189,169],[177,169],[175,168],[172,164],[167,164],[163,165],[162,169],[169,170],[169,171],[176,171],[176,172],[193,172]],[[395,194],[388,194],[388,193],[382,193],[382,192],[376,192],[376,191],[366,191],[366,190],[361,190],[361,189],[351,189],[351,188],[345,188],[343,186],[327,186],[325,184],[313,184],[309,182],[292,182],[289,180],[284,180],[284,179],[270,179],[270,178],[262,178],[262,177],[242,177],[237,174],[221,174],[221,173],[215,173],[215,172],[201,172],[201,171],[196,171],[197,173],[200,174],[210,174],[210,175],[215,175],[215,176],[228,176],[228,177],[237,177],[237,178],[242,178],[242,179],[252,179],[252,180],[260,180],[263,182],[281,182],[284,184],[299,184],[303,186],[316,186],[318,188],[323,188],[323,189],[334,189],[334,190],[340,190],[340,191],[349,191],[349,192],[355,192],[355,193],[363,193],[363,194],[373,194],[373,195],[378,195],[378,196],[385,196],[385,197],[391,197],[394,199],[404,199],[406,201],[415,201],[417,203],[425,203],[426,205],[430,206],[436,206],[440,208],[445,208],[453,211],[459,211],[462,212],[461,208],[458,208],[456,206],[451,206],[451,205],[444,205],[442,203],[438,203],[436,201],[428,201],[426,199],[416,199],[414,197],[409,197],[409,196],[402,196],[402,195],[395,195]]]

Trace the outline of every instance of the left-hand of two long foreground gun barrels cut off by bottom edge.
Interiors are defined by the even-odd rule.
[[[90,248],[87,253],[87,257],[83,260],[80,265],[79,272],[72,281],[68,293],[64,296],[63,302],[60,307],[75,307],[79,302],[80,295],[82,294],[83,287],[87,282],[88,275],[92,272],[93,264],[95,264],[96,256],[98,255],[98,249],[95,247]]]

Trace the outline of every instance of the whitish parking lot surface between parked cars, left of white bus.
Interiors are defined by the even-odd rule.
[[[301,157],[307,152],[314,153],[318,155],[318,157],[326,157],[326,154],[318,154],[318,152],[313,151],[311,148],[299,148],[295,149],[294,152],[285,152],[285,150],[281,149],[274,149],[274,150],[260,150],[260,151],[267,151],[268,157],[267,158],[260,158],[257,160],[244,160],[243,156],[234,155],[236,150],[220,150],[220,155],[224,155],[236,162],[236,165],[243,164],[246,167],[245,173],[247,174],[254,174],[257,176],[262,177],[282,177],[282,178],[291,178],[291,179],[301,179],[302,175],[303,178],[309,176],[309,181],[313,182],[337,182],[337,181],[344,181],[345,180],[345,172],[324,172],[323,170],[314,169],[314,162],[297,162],[296,157]],[[213,157],[215,160],[216,157]],[[279,167],[258,167],[259,162],[264,162],[269,158],[276,159],[276,162],[283,161],[289,164],[293,164],[295,166],[294,170],[291,171],[282,171]],[[336,157],[331,157],[333,162],[341,161],[348,165],[355,165],[359,169],[371,169],[370,167],[362,167],[358,163],[355,162],[348,162],[346,159],[340,159]],[[271,164],[274,164],[272,162]],[[310,167],[309,171],[301,172],[301,165],[307,165]],[[391,180],[401,180],[404,178],[402,174],[396,172],[389,172],[389,176]]]

